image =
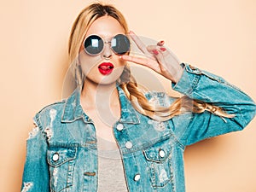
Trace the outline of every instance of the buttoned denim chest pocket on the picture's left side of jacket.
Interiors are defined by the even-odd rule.
[[[59,192],[73,185],[73,169],[77,148],[50,147],[47,152],[50,189]]]

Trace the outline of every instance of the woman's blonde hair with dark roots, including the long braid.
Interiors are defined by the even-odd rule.
[[[114,19],[118,20],[119,24],[125,29],[125,33],[128,33],[128,26],[124,15],[122,15],[118,9],[115,9],[113,5],[92,3],[80,12],[79,16],[73,23],[68,42],[69,61],[72,63],[71,65],[73,67],[75,79],[79,86],[82,86],[84,81],[84,75],[80,69],[80,66],[76,63],[76,58],[79,55],[80,45],[82,44],[84,36],[90,25],[96,19],[105,15],[112,16]],[[137,83],[131,76],[130,68],[127,66],[125,66],[124,72],[119,78],[119,84],[120,87],[125,91],[125,95],[131,101],[133,107],[139,113],[143,113],[152,119],[163,121],[166,119],[171,119],[173,116],[183,113],[183,111],[202,113],[206,110],[221,117],[233,117],[233,115],[224,113],[221,108],[212,106],[206,102],[193,100],[188,96],[177,98],[177,100],[169,107],[156,106],[154,103],[148,102],[146,96],[138,88]]]

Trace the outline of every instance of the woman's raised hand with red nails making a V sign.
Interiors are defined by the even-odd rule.
[[[138,49],[140,49],[146,57],[141,58],[132,55],[121,55],[120,58],[125,61],[131,61],[149,67],[156,73],[160,73],[162,76],[166,77],[166,79],[177,83],[183,74],[183,67],[179,65],[180,62],[177,60],[177,57],[163,46],[164,41],[160,41],[156,45],[145,46],[134,32],[130,32],[129,34],[135,44],[137,44]]]

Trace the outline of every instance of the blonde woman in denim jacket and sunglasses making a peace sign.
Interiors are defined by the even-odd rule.
[[[130,55],[131,41],[144,57]],[[185,191],[189,144],[242,130],[255,103],[224,79],[179,63],[164,42],[145,46],[111,5],[75,20],[69,55],[77,89],[38,112],[22,191]],[[184,96],[143,94],[126,61],[151,68]]]

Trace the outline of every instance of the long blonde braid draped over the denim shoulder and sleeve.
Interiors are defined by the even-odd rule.
[[[210,103],[193,100],[189,96],[177,98],[169,107],[160,107],[150,103],[143,92],[138,89],[137,84],[133,82],[121,84],[121,88],[139,113],[159,121],[171,119],[184,112],[203,113],[209,111],[221,118],[233,118],[235,116],[234,114],[225,113],[222,108]]]

